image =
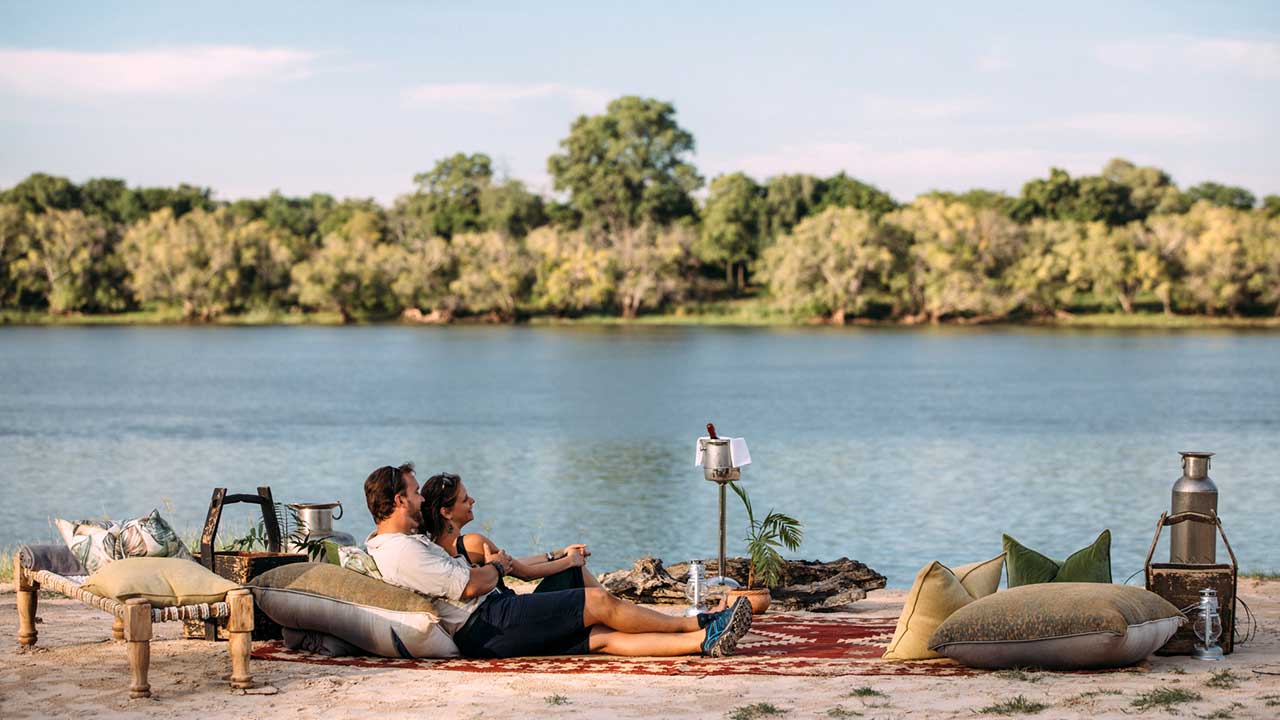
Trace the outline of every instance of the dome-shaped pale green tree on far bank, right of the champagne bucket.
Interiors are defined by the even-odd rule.
[[[828,208],[801,220],[764,251],[764,275],[788,310],[829,315],[844,324],[872,301],[887,300],[897,266],[896,237],[873,215]]]

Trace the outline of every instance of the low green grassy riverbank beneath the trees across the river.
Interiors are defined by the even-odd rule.
[[[796,315],[758,299],[727,300],[677,307],[637,318],[586,314],[575,318],[525,315],[517,324],[530,325],[678,325],[678,327],[809,327],[829,325],[823,318]],[[136,310],[110,314],[50,315],[42,311],[0,310],[0,325],[342,325],[338,313],[253,310],[221,315],[210,322],[184,319],[177,309]],[[431,324],[412,320],[366,320],[356,324]],[[457,318],[452,324],[494,324],[490,316]],[[933,327],[920,323],[854,319],[849,327]],[[1020,318],[975,324],[966,320],[938,323],[942,327],[1036,327],[1082,329],[1280,329],[1280,316],[1165,315],[1162,313],[1082,313],[1048,318]]]

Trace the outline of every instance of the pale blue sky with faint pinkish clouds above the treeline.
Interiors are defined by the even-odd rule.
[[[710,178],[909,200],[1115,156],[1280,193],[1280,3],[14,3],[0,187],[389,202],[453,152],[550,193],[575,118],[672,102]]]

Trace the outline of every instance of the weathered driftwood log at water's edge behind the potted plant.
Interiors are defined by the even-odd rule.
[[[705,560],[707,575],[719,574],[716,560]],[[724,560],[727,575],[745,584],[748,560]],[[685,605],[685,579],[689,564],[664,568],[657,557],[641,557],[630,570],[600,575],[600,584],[613,594],[648,605]],[[867,597],[867,591],[884,587],[884,575],[867,565],[841,557],[835,562],[787,560],[771,589],[773,606],[780,610],[832,611]],[[713,596],[714,597],[714,596]]]

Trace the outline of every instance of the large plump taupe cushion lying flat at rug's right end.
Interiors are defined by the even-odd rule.
[[[1132,585],[1032,584],[956,610],[929,648],[972,667],[1121,667],[1169,642],[1184,620]]]

